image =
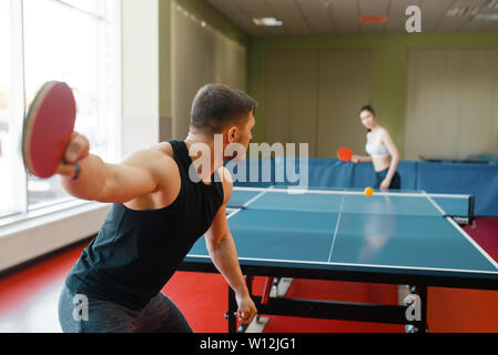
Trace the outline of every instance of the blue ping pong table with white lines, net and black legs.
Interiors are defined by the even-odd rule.
[[[228,207],[248,282],[258,275],[411,285],[420,307],[420,317],[408,320],[410,304],[252,295],[258,314],[406,324],[425,332],[428,286],[498,290],[498,264],[455,222],[471,221],[471,195],[234,187]],[[216,272],[203,239],[181,270]],[[230,332],[236,331],[235,311],[228,287]]]

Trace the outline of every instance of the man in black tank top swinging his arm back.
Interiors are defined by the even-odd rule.
[[[223,152],[231,144],[247,149],[255,108],[240,90],[207,84],[193,101],[184,141],[159,143],[120,164],[89,154],[88,140],[73,133],[65,160],[80,169],[61,166],[63,187],[113,206],[65,280],[59,300],[63,332],[192,332],[161,288],[203,234],[213,263],[235,292],[236,315],[243,323],[253,320],[256,308],[226,221],[233,185],[223,161],[234,156]],[[223,152],[214,148],[215,134]],[[204,148],[200,154],[189,153],[199,146]],[[210,162],[209,171],[193,164],[200,160]],[[75,300],[85,301],[88,314],[75,310]]]

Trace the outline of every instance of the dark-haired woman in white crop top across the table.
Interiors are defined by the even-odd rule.
[[[359,110],[359,119],[367,129],[366,151],[369,156],[353,155],[354,163],[373,162],[376,181],[374,189],[400,189],[402,179],[396,171],[399,163],[399,153],[389,132],[378,125],[374,108],[365,105]]]

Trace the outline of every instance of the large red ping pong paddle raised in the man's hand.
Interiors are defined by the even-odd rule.
[[[77,103],[64,82],[50,81],[39,90],[22,130],[24,166],[38,178],[52,176],[64,163],[64,152],[74,129]],[[79,166],[77,164],[77,174]]]

